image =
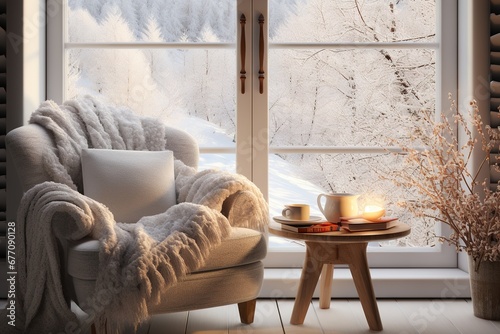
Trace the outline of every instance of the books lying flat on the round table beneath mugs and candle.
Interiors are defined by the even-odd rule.
[[[310,225],[287,225],[281,223],[281,229],[296,233],[322,233],[345,229],[351,232],[387,230],[396,226],[398,219],[382,217],[377,220],[363,218],[342,218],[339,223],[322,222]]]

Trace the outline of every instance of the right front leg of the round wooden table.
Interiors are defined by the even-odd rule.
[[[358,291],[368,326],[373,331],[381,331],[383,329],[382,320],[380,319],[370,268],[366,258],[366,246],[367,244],[346,244],[343,245],[343,249],[347,251],[348,257],[350,257],[350,261],[348,261],[349,269],[351,269],[354,285]]]

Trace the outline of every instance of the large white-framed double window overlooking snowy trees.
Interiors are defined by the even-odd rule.
[[[328,191],[383,200],[414,230],[407,239],[371,245],[373,266],[456,265],[453,249],[433,243],[433,227],[421,229],[390,206],[403,194],[376,175],[379,166],[400,166],[387,154],[394,149],[388,132],[404,140],[418,127],[421,108],[449,109],[447,95],[456,92],[454,2],[62,6],[61,15],[49,17],[49,98],[101,94],[195,133],[201,164],[252,179],[268,194],[271,215],[297,201],[318,213],[316,196]],[[272,240],[268,265],[302,264],[293,256],[301,246]]]

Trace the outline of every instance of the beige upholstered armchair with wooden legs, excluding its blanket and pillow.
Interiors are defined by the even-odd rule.
[[[81,107],[82,105],[83,102],[80,102],[80,108],[78,108],[78,104],[73,104],[71,106],[66,105],[66,107],[61,107],[61,110],[53,105],[51,105],[50,108],[58,109],[56,110],[57,114],[60,112],[69,112],[70,116],[68,117],[73,119],[75,119],[74,115],[76,113],[78,114],[78,121],[76,123],[81,123],[82,118],[84,119],[83,123],[85,123],[85,117],[82,117],[81,114],[83,112],[88,112],[88,110],[84,109],[89,108],[83,108]],[[92,102],[91,105],[94,113],[97,114],[98,117],[101,117],[103,112],[100,110],[100,105],[95,101]],[[45,105],[45,109],[47,109],[47,105]],[[110,114],[115,117],[115,123],[119,124],[122,121],[116,119],[114,112]],[[19,183],[25,193],[30,190],[32,191],[37,185],[46,184],[47,181],[55,181],[55,184],[60,182],[60,180],[54,178],[54,173],[48,170],[46,165],[47,152],[55,152],[57,155],[58,152],[62,150],[61,142],[59,142],[61,138],[58,137],[60,134],[48,126],[47,123],[40,121],[40,119],[46,120],[48,117],[47,115],[49,115],[49,113],[43,114],[44,118],[39,117],[38,121],[32,117],[30,121],[31,124],[10,131],[6,137],[8,152],[10,153],[9,158],[13,161]],[[95,115],[92,114],[92,117],[94,116]],[[126,121],[130,122],[131,116],[127,114],[127,117],[128,119]],[[142,118],[137,118],[136,120],[138,124],[145,124]],[[105,122],[101,123],[104,124]],[[81,152],[81,149],[87,147],[96,147],[97,145],[93,142],[89,134],[90,131],[86,130],[89,127],[85,128],[85,126],[81,124],[79,126],[78,131],[83,131],[84,136],[87,136],[88,145],[77,147],[75,152]],[[104,128],[105,127],[106,126],[104,126]],[[123,132],[120,132],[120,135],[123,135]],[[182,196],[184,196],[184,199],[189,199],[193,197],[193,195],[187,192],[186,189],[179,188],[180,186],[178,183],[180,181],[178,179],[190,179],[199,174],[193,172],[198,164],[197,144],[186,132],[168,126],[164,126],[164,137],[164,148],[166,150],[171,150],[175,159],[181,161],[183,163],[182,165],[185,165],[181,172],[179,172],[176,165],[177,175],[175,182],[177,200],[179,201],[179,198]],[[73,142],[72,146],[75,146]],[[130,148],[127,147],[126,149]],[[191,172],[186,174],[185,171]],[[68,171],[68,173],[71,174],[71,171]],[[184,173],[184,175],[181,177],[180,174],[182,173]],[[83,187],[81,178],[77,176],[73,179],[76,180],[75,191],[81,194]],[[59,191],[60,188],[57,189]],[[183,191],[184,193],[182,193]],[[33,196],[34,197],[31,198],[37,198],[35,195]],[[87,199],[83,194],[81,196],[85,201],[88,201],[86,203],[94,205],[94,201]],[[24,200],[26,201],[26,199]],[[256,195],[251,188],[237,189],[232,193],[227,193],[227,196],[221,202],[220,210],[216,210],[220,212],[220,217],[223,217],[218,219],[227,220],[229,222],[229,231],[226,233],[227,235],[222,238],[215,247],[210,249],[208,256],[201,266],[181,276],[178,282],[171,284],[165,291],[156,291],[159,300],[146,300],[145,305],[147,305],[147,311],[145,312],[152,315],[237,303],[241,322],[246,324],[252,323],[256,298],[259,295],[263,280],[262,259],[265,257],[267,251],[267,221],[260,221],[256,225],[257,227],[253,228],[252,225],[248,223],[248,221],[253,218],[243,217],[246,221],[242,224],[240,224],[238,220],[242,218],[242,215],[252,215],[255,214],[255,212],[259,212],[259,210],[267,212],[267,206],[259,207],[263,205],[266,205],[265,202],[263,203],[259,194]],[[98,208],[99,210],[106,210],[104,206],[98,206]],[[264,215],[257,215],[257,217],[264,217]],[[72,222],[72,219],[75,219],[75,217],[65,215],[64,213],[56,213],[51,219],[58,220],[57,226],[62,226],[59,228],[63,230],[69,230],[73,228],[71,227],[73,226],[72,224],[75,224]],[[65,224],[67,224],[68,227],[66,227]],[[114,228],[115,225],[111,226]],[[53,228],[55,229],[55,227]],[[102,267],[102,258],[100,261],[100,256],[102,257],[100,251],[102,247],[101,240],[98,238],[95,229],[85,237],[76,238],[76,240],[71,239],[72,238],[59,237],[59,235],[58,238],[56,238],[56,253],[59,254],[60,259],[59,274],[64,300],[68,307],[70,302],[73,301],[87,313],[98,313],[99,310],[91,309],[89,306],[93,305],[95,308],[95,303],[91,304],[88,300],[89,298],[95,298],[96,294],[100,292],[96,291],[96,282],[99,279],[99,274],[104,270]],[[29,254],[26,254],[26,256],[29,256]],[[27,266],[26,271],[29,272],[29,270],[30,268]],[[22,294],[22,296],[26,299],[29,297],[25,294]],[[30,300],[24,300],[22,303],[25,313],[27,312],[30,302]],[[50,322],[50,320],[46,319],[48,315],[43,314],[44,311],[41,307],[40,312],[41,314],[38,314],[38,316],[35,314],[30,317],[30,324],[26,324],[26,328],[34,330],[37,327],[47,326],[47,322]],[[94,320],[98,321],[99,319]],[[122,320],[126,323],[129,319]],[[51,325],[60,326],[61,324],[56,321],[56,324],[52,323]],[[110,330],[109,326],[108,323],[108,330]],[[52,329],[56,328],[54,327]],[[113,328],[111,328],[111,330],[113,330]]]

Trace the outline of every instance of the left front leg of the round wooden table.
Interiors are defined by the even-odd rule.
[[[304,323],[307,310],[311,304],[311,299],[318,283],[318,278],[323,267],[323,262],[315,256],[317,252],[316,244],[306,243],[306,257],[302,274],[300,276],[299,289],[297,298],[293,305],[292,316],[290,323],[292,325],[301,325]]]

